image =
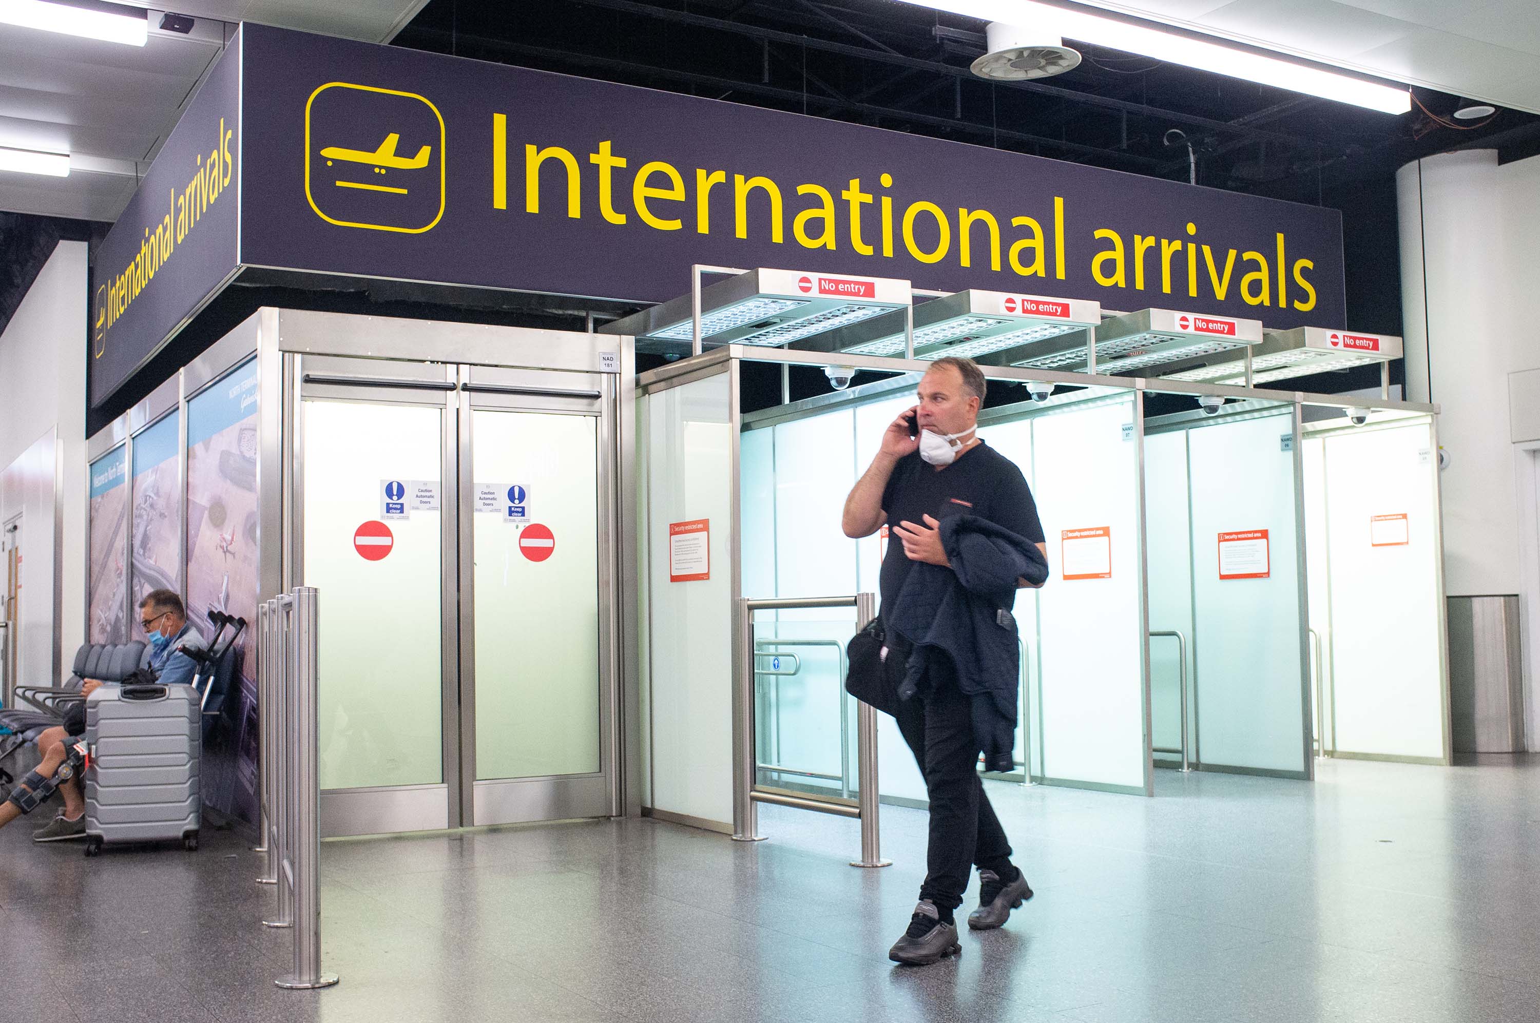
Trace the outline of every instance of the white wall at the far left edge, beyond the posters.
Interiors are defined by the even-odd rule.
[[[62,621],[52,622],[54,604],[54,524],[23,524],[25,587],[22,652],[26,662],[18,675],[32,675],[43,647],[38,632],[52,633],[31,612],[48,609],[51,650],[57,646],[66,661],[85,641],[85,505],[86,505],[86,245],[60,242],[43,265],[37,280],[22,299],[5,333],[0,334],[0,468],[9,467],[42,438],[57,431],[55,473],[62,488],[54,495],[62,512]],[[45,470],[46,471],[46,470]],[[35,475],[35,473],[34,473]],[[11,473],[8,478],[15,479]],[[0,484],[5,487],[5,484]],[[14,488],[14,487],[12,487]],[[37,507],[35,502],[32,502]],[[9,518],[17,495],[0,491],[0,518]],[[28,513],[28,519],[37,518]]]

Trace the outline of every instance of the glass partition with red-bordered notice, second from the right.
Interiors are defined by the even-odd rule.
[[[1150,630],[1180,629],[1190,615],[1192,752],[1210,769],[1303,775],[1309,704],[1294,405],[1247,401],[1206,414],[1190,396],[1147,401],[1152,411],[1181,408],[1146,422],[1146,493],[1152,541],[1158,527],[1161,544],[1172,542],[1184,519],[1190,536],[1190,612],[1181,609],[1180,569],[1166,564],[1172,552],[1152,552]],[[1186,447],[1186,495],[1172,470],[1178,445]],[[1164,676],[1153,690],[1161,738],[1180,715],[1169,681],[1175,656],[1173,644],[1152,638],[1152,675]]]

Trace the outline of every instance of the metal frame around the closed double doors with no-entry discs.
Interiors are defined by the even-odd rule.
[[[273,308],[259,310],[251,320],[256,320],[259,337],[263,397],[282,396],[280,402],[260,402],[262,422],[266,427],[262,441],[262,470],[265,470],[262,478],[283,481],[282,491],[277,487],[263,491],[263,522],[273,525],[282,522],[283,539],[277,545],[277,552],[265,544],[262,596],[271,596],[270,585],[274,592],[282,592],[303,584],[300,578],[303,567],[303,397],[314,393],[320,397],[342,401],[428,404],[454,413],[444,416],[444,482],[440,484],[444,490],[440,493],[448,493],[450,485],[457,488],[460,515],[454,516],[453,522],[444,519],[440,565],[460,565],[471,542],[470,532],[462,527],[460,518],[471,515],[467,498],[470,496],[468,487],[473,484],[470,479],[470,447],[462,447],[462,431],[468,441],[470,416],[460,414],[460,411],[464,408],[468,413],[473,404],[484,407],[482,396],[473,402],[471,393],[460,390],[460,385],[477,379],[491,381],[493,377],[497,377],[499,382],[508,379],[533,381],[545,384],[545,387],[533,390],[547,391],[545,401],[551,401],[548,391],[553,388],[550,384],[554,382],[556,388],[567,388],[573,374],[584,374],[593,381],[587,387],[601,391],[601,408],[596,410],[601,499],[601,772],[578,776],[591,781],[584,798],[576,801],[562,798],[561,793],[553,797],[551,789],[556,786],[551,784],[545,784],[545,792],[541,793],[537,783],[551,780],[476,783],[473,652],[471,659],[465,656],[465,647],[474,642],[474,633],[468,629],[468,622],[473,621],[473,604],[467,599],[470,589],[459,578],[457,569],[453,573],[444,573],[440,596],[444,609],[440,626],[442,692],[445,693],[442,701],[444,781],[437,786],[351,789],[348,792],[354,795],[376,793],[377,797],[367,801],[348,800],[348,803],[356,804],[356,812],[353,809],[343,810],[342,801],[328,798],[330,793],[322,792],[323,818],[330,818],[322,821],[323,835],[476,826],[480,823],[476,813],[476,793],[488,792],[485,804],[490,801],[493,789],[510,786],[521,790],[516,804],[522,809],[497,815],[505,820],[638,813],[641,753],[639,740],[631,732],[636,730],[639,709],[636,672],[639,636],[634,602],[622,598],[622,593],[634,589],[638,579],[636,521],[622,513],[625,507],[634,505],[636,495],[633,339],[616,334]],[[370,362],[337,364],[334,359]],[[382,370],[382,376],[379,381],[370,382],[303,384],[306,364],[317,374],[365,376],[359,370],[370,367]],[[357,367],[357,370],[340,373],[339,367]],[[536,371],[537,376],[527,376],[530,371]],[[567,376],[551,376],[553,373]],[[402,381],[410,382],[405,387],[390,385]],[[425,384],[431,387],[431,391],[425,390]],[[517,387],[517,384],[514,385]],[[437,393],[442,405],[428,397],[430,393]],[[539,397],[524,390],[510,394],[510,397],[514,396],[525,402]],[[425,397],[428,401],[424,401]],[[527,411],[548,411],[548,408],[528,408]],[[465,451],[464,458],[460,451]],[[444,513],[442,501],[440,513]],[[273,564],[273,559],[282,559],[282,567]],[[471,698],[467,699],[467,695]],[[462,756],[462,749],[470,750],[471,756]],[[594,783],[599,789],[598,797],[593,792]],[[430,807],[442,809],[433,810]],[[490,810],[490,806],[485,809]],[[382,827],[382,823],[388,826]]]

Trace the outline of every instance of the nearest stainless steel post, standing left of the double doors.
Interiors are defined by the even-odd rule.
[[[290,801],[294,832],[290,837],[290,866],[294,872],[294,972],[279,977],[279,988],[310,991],[337,983],[320,972],[320,783],[316,772],[316,587],[294,589],[293,723],[290,753],[293,776]]]

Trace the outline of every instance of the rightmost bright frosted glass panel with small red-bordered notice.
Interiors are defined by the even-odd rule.
[[[1326,438],[1327,658],[1341,752],[1445,755],[1431,447],[1426,424]]]

